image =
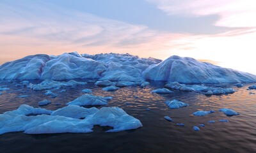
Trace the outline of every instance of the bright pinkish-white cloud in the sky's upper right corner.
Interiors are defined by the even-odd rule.
[[[252,0],[148,0],[168,15],[198,17],[219,15],[215,25],[256,27],[256,1]]]

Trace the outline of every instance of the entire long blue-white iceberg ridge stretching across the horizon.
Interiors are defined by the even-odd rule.
[[[182,83],[256,82],[249,73],[221,68],[189,57],[172,56],[161,61],[129,54],[77,54],[58,56],[29,55],[0,66],[0,79],[97,78],[110,82],[143,82],[163,80]],[[100,84],[99,84],[100,85]],[[104,84],[106,86],[118,84]],[[143,84],[144,86],[146,84]],[[190,90],[190,89],[184,89]]]

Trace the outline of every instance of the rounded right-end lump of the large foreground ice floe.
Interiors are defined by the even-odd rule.
[[[142,127],[140,120],[128,115],[122,108],[103,107],[98,112],[86,118],[93,125],[111,126],[107,132],[118,132],[127,129],[137,129]]]

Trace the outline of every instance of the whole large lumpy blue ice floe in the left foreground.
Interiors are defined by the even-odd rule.
[[[27,116],[30,113],[42,115]],[[85,119],[80,119],[83,117]],[[17,110],[1,114],[0,120],[0,134],[15,131],[24,131],[27,134],[89,133],[94,125],[113,127],[107,132],[142,127],[140,120],[118,107],[103,107],[98,110],[70,105],[52,111],[21,105]]]

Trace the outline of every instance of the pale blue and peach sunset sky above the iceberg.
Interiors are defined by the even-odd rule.
[[[255,0],[0,0],[0,64],[26,55],[193,57],[256,75]]]

